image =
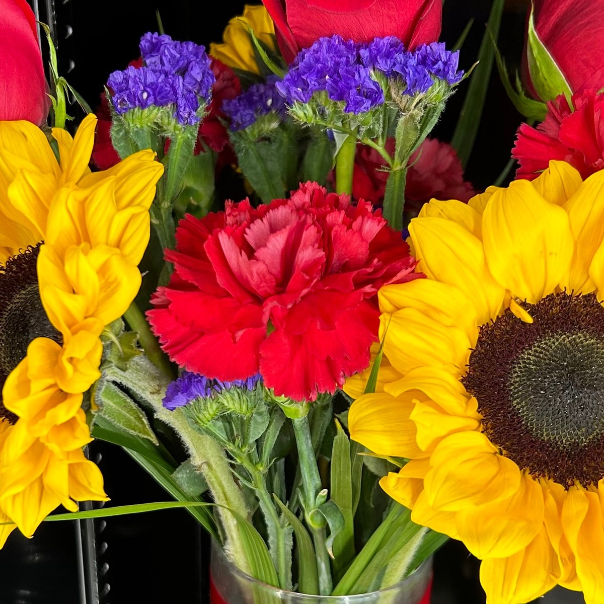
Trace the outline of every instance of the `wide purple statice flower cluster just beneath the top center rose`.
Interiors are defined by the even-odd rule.
[[[424,94],[439,80],[455,85],[463,77],[458,57],[437,42],[410,52],[394,36],[355,43],[334,35],[302,50],[277,89],[290,105],[326,92],[344,101],[345,112],[359,114],[384,103],[389,83],[405,95]]]

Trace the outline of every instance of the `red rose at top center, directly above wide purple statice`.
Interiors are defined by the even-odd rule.
[[[369,42],[396,36],[407,48],[434,42],[440,35],[440,0],[263,0],[275,22],[284,59],[322,36]]]

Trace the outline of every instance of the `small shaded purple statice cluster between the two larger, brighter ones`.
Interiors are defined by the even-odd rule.
[[[285,99],[275,88],[280,81],[277,76],[269,76],[266,82],[253,84],[239,96],[222,103],[222,111],[231,120],[231,130],[243,130],[259,117],[274,114],[279,121],[286,115]]]

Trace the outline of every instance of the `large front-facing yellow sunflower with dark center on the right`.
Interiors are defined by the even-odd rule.
[[[604,602],[604,172],[533,182],[411,221],[425,279],[379,292],[375,393],[353,439],[408,458],[381,486],[479,557],[488,604],[558,583]]]

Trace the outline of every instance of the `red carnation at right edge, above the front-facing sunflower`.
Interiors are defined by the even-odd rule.
[[[520,164],[516,178],[537,178],[550,159],[572,165],[583,180],[604,168],[604,94],[588,90],[572,101],[574,111],[561,95],[547,104],[545,120],[536,128],[519,127],[512,150]]]

